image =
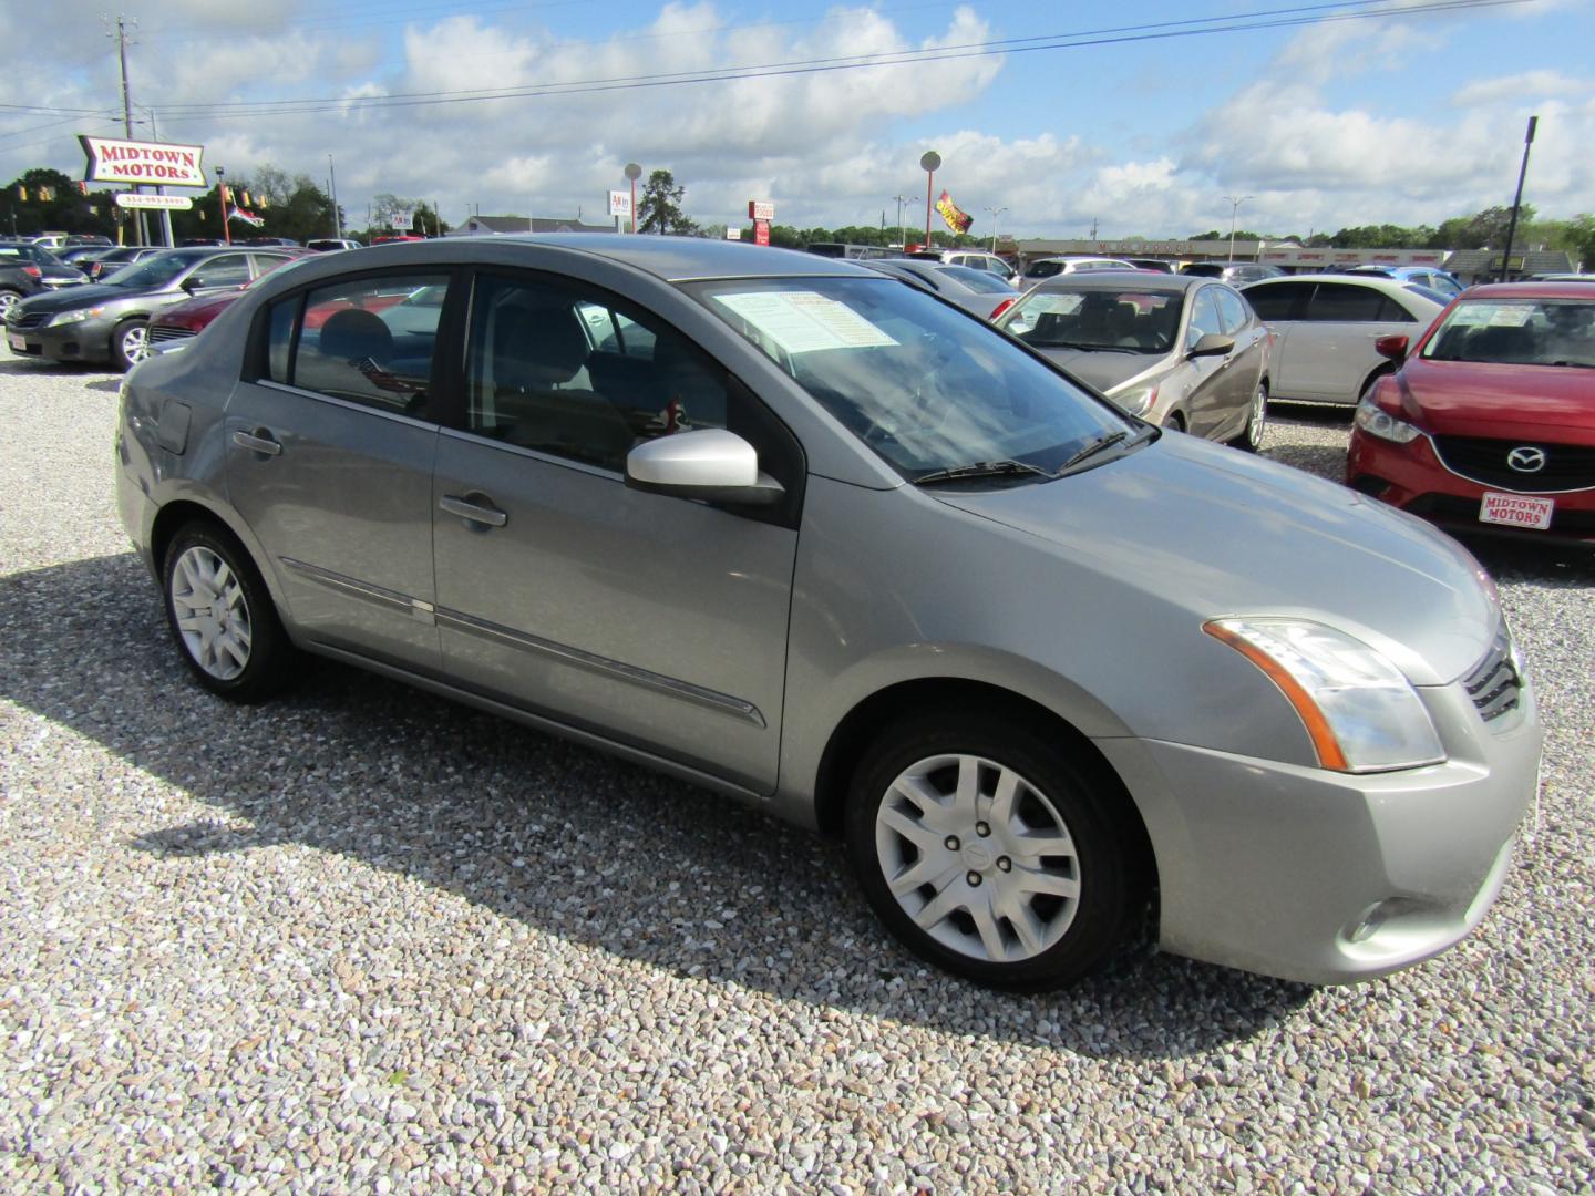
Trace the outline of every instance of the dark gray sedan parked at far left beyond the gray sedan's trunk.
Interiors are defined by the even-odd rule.
[[[270,249],[166,249],[134,262],[102,284],[13,305],[5,319],[11,352],[61,362],[144,360],[150,317],[196,295],[238,290],[289,254]]]

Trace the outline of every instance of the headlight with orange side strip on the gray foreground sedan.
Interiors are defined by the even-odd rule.
[[[1361,639],[1305,619],[1214,619],[1203,630],[1279,687],[1306,727],[1319,765],[1384,772],[1445,759],[1412,683]]]

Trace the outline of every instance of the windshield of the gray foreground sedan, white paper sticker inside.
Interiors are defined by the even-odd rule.
[[[1088,445],[1137,429],[990,325],[890,279],[734,279],[692,290],[911,480],[1016,461],[1003,482],[1037,482]]]

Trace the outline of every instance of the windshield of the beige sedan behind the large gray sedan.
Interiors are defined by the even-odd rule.
[[[1183,300],[1183,290],[1134,287],[1032,290],[1008,309],[1000,327],[1037,349],[1163,354],[1174,348]]]

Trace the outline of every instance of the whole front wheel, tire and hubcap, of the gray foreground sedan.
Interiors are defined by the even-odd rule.
[[[860,759],[847,852],[869,904],[916,955],[1040,992],[1094,971],[1137,925],[1147,890],[1128,802],[1054,727],[919,713]],[[1043,853],[1043,839],[1056,850]]]

